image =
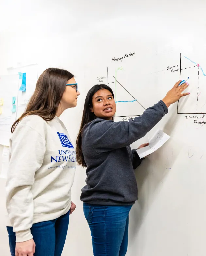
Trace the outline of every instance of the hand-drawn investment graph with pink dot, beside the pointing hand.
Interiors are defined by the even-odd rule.
[[[200,64],[180,54],[180,79],[189,77],[191,94],[178,101],[178,114],[206,114],[206,75]]]

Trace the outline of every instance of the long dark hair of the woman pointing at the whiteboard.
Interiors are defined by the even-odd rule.
[[[87,123],[89,123],[92,120],[98,118],[98,117],[95,116],[94,112],[93,113],[91,112],[90,108],[92,107],[92,97],[93,97],[93,95],[101,89],[107,89],[109,92],[111,92],[111,94],[114,98],[114,93],[113,93],[112,89],[109,86],[105,85],[105,84],[96,84],[87,93],[87,96],[86,96],[86,99],[85,99],[85,102],[84,102],[84,110],[83,110],[83,115],[82,115],[82,120],[81,120],[81,126],[80,126],[80,129],[79,129],[79,133],[78,133],[77,141],[76,141],[76,143],[77,143],[77,146],[76,146],[77,164],[81,165],[83,167],[87,167],[87,165],[85,163],[84,155],[82,153],[82,147],[81,147],[82,133],[83,133],[84,126]]]

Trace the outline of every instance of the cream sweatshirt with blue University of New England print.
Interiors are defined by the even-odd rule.
[[[16,242],[32,239],[33,223],[54,220],[71,207],[76,152],[59,117],[24,117],[10,139],[7,226]]]

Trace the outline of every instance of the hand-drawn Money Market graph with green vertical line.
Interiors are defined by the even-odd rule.
[[[121,70],[121,68],[119,69]],[[131,94],[131,87],[129,91],[128,84],[127,89],[125,88],[126,86],[121,82],[122,80],[125,81],[125,74],[123,73],[124,78],[121,75],[117,77],[117,70],[115,69],[114,76],[114,72],[110,74],[110,70],[107,67],[107,85],[112,88],[117,104],[115,117],[137,117],[142,115],[146,108],[133,93]]]

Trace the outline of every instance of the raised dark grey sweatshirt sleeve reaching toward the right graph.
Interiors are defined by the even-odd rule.
[[[89,126],[87,135],[98,153],[126,147],[145,136],[167,112],[167,106],[161,100],[129,122],[99,119]]]

